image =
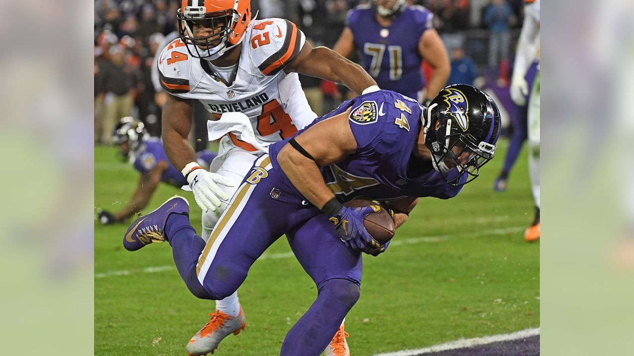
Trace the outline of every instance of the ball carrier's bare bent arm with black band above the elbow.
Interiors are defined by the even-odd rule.
[[[278,162],[292,184],[317,208],[335,195],[323,181],[319,166],[331,165],[354,153],[356,141],[348,124],[350,111],[323,120],[295,137],[295,141],[313,156],[314,161],[286,144]]]

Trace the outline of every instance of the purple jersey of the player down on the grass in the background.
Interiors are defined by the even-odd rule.
[[[187,185],[183,174],[169,162],[167,153],[165,153],[165,149],[163,148],[163,143],[159,138],[153,137],[143,144],[143,148],[137,153],[136,160],[134,160],[134,168],[136,168],[139,173],[146,174],[156,168],[157,164],[161,161],[165,161],[168,164],[167,169],[161,175],[162,182],[178,188]]]

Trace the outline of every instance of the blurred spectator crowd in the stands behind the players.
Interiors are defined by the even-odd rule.
[[[295,22],[316,46],[328,46],[346,26],[347,11],[368,0],[252,0],[258,18]],[[507,85],[509,56],[522,25],[523,0],[411,1],[434,12],[434,26],[452,60],[451,82],[473,84],[489,73]],[[179,0],[96,0],[94,5],[95,143],[109,143],[119,118],[141,119],[160,136],[160,88],[152,84],[155,53],[175,38]],[[167,36],[167,39],[166,39]],[[353,58],[354,60],[354,58]],[[302,77],[313,110],[336,106],[336,86]],[[157,96],[159,95],[159,96]],[[311,99],[313,98],[313,99]],[[314,107],[318,106],[318,107]]]

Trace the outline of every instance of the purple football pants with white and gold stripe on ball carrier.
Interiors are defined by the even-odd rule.
[[[166,234],[191,293],[211,300],[235,292],[257,258],[287,235],[318,296],[288,332],[280,355],[320,355],[359,298],[361,253],[342,243],[332,222],[302,200],[268,155],[256,160],[206,245],[184,215],[171,215]]]

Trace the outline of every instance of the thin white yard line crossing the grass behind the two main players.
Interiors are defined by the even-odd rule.
[[[522,231],[524,227],[507,227],[506,229],[493,229],[493,230],[485,230],[480,232],[464,232],[460,234],[447,234],[447,235],[438,235],[438,236],[425,236],[423,238],[410,238],[410,239],[395,239],[392,241],[390,246],[400,246],[400,245],[414,245],[417,243],[438,243],[441,241],[446,241],[451,238],[467,238],[474,236],[484,236],[484,235],[503,235],[509,234],[511,232],[519,232]],[[279,260],[281,258],[290,258],[294,257],[292,252],[284,252],[284,253],[264,253],[258,260]],[[156,273],[156,272],[164,272],[166,270],[175,270],[176,266],[174,265],[164,265],[164,266],[156,266],[156,267],[146,267],[144,269],[133,269],[133,270],[111,270],[109,272],[103,273],[95,273],[95,278],[105,278],[105,277],[114,277],[114,276],[129,276],[131,274],[137,273]]]

